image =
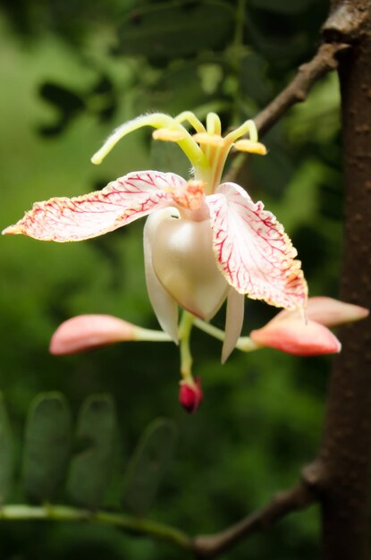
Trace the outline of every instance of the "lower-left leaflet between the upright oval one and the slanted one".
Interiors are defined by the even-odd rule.
[[[82,404],[67,490],[74,503],[97,508],[103,498],[114,452],[116,414],[110,395],[92,395]]]

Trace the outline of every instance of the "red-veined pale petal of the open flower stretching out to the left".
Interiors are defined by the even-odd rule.
[[[139,171],[110,182],[102,191],[36,202],[3,233],[23,233],[42,241],[75,242],[111,232],[146,216],[172,198],[168,188],[187,182],[179,175]]]

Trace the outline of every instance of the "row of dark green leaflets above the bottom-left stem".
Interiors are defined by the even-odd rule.
[[[153,507],[173,460],[176,439],[173,420],[153,420],[145,429],[132,456],[125,460],[128,466],[120,481],[125,512],[143,516]],[[38,395],[31,403],[25,428],[21,478],[26,498],[31,504],[55,503],[65,483],[68,503],[97,510],[112,476],[122,479],[114,460],[117,442],[116,410],[110,395],[90,395],[82,403],[74,450],[72,414],[66,399],[60,393]],[[13,437],[2,396],[0,449],[4,503],[13,486]],[[120,500],[114,499],[116,509],[117,505]]]

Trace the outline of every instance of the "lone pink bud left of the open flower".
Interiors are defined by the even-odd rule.
[[[122,341],[135,340],[135,327],[111,315],[79,315],[64,321],[50,341],[52,354],[74,354]]]

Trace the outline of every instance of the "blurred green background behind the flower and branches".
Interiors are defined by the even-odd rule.
[[[122,140],[99,167],[89,157],[114,126],[146,111],[199,117],[218,112],[227,128],[252,117],[316,52],[327,5],[320,0],[3,0],[0,9],[0,226],[32,202],[96,190],[129,171],[184,173],[176,150],[152,146],[148,131]],[[337,295],[341,258],[341,146],[336,75],[266,135],[242,181],[263,199],[299,250],[311,295]],[[173,344],[119,344],[53,357],[48,344],[65,319],[109,313],[156,328],[145,289],[143,221],[89,242],[6,237],[0,243],[1,390],[15,436],[14,485],[25,499],[21,448],[30,403],[61,391],[74,419],[84,399],[114,396],[117,453],[105,496],[115,503],[122,473],[148,422],[174,421],[178,443],[150,517],[190,534],[222,530],[295,483],[321,437],[330,358],[265,350],[233,352],[195,332],[195,374],[205,398],[189,416],[178,403]],[[246,302],[247,334],[274,310]],[[215,318],[223,327],[223,312]],[[57,501],[67,500],[64,491]],[[312,560],[316,508],[292,514],[223,557]],[[0,522],[2,557],[179,557],[149,539],[89,524]],[[184,555],[186,557],[186,555]]]

